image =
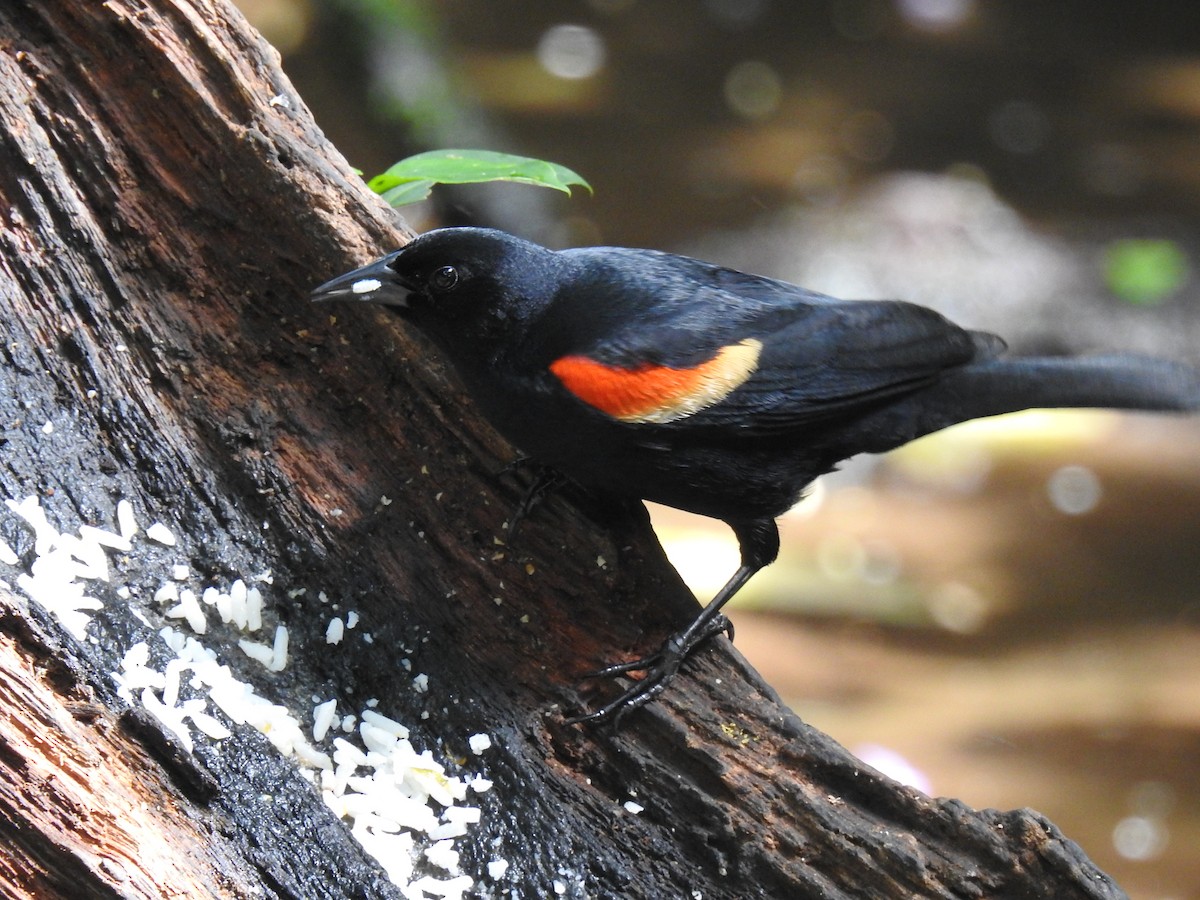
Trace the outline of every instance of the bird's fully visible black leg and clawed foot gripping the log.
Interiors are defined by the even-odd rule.
[[[742,550],[742,565],[733,576],[688,628],[671,635],[655,653],[589,673],[589,678],[607,678],[626,672],[646,672],[616,700],[593,713],[568,719],[568,725],[607,721],[618,725],[630,710],[646,706],[661,694],[692,650],[722,631],[730,640],[733,638],[733,624],[721,613],[721,607],[750,581],[755,572],[773,563],[779,556],[779,529],[770,518],[730,522],[728,526],[737,535]]]

